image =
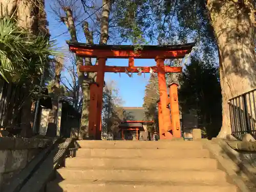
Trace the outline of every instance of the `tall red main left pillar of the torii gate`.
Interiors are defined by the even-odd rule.
[[[102,111],[102,97],[103,97],[103,86],[104,86],[104,68],[106,64],[106,58],[98,58],[98,71],[96,82],[98,83],[97,88],[97,111],[96,111],[96,139],[101,139],[101,111]]]

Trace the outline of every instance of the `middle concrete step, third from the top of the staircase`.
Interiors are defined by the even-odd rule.
[[[166,170],[185,170],[185,169],[217,169],[218,161],[210,158],[187,158],[187,159],[146,159],[146,158],[67,158],[66,167],[109,167],[117,169],[166,169]]]

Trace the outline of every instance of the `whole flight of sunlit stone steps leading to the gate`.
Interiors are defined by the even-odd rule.
[[[236,192],[200,141],[78,141],[47,192]]]

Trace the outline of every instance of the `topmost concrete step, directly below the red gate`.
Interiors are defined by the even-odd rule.
[[[81,148],[151,148],[151,149],[202,149],[200,141],[100,141],[100,140],[80,140],[77,146]]]

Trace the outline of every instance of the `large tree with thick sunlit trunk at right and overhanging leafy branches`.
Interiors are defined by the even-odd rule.
[[[256,87],[255,1],[136,0],[129,4],[116,15],[122,34],[129,37],[136,26],[135,39],[150,37],[160,44],[189,39],[197,42],[205,60],[219,57],[223,117],[219,137],[231,134],[228,99]]]

